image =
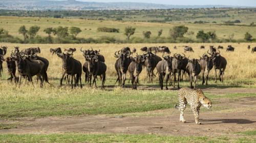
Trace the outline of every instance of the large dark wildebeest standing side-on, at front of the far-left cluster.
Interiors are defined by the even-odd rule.
[[[23,76],[27,76],[29,81],[33,84],[32,77],[36,75],[40,80],[40,87],[42,87],[44,80],[41,77],[43,77],[45,80],[48,79],[47,75],[45,74],[45,64],[43,62],[40,60],[30,60],[29,58],[26,58],[23,52],[12,53],[11,57],[17,62],[19,72],[19,85],[22,82]]]

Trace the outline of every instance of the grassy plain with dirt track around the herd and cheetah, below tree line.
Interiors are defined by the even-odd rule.
[[[0,142],[255,142],[256,130],[256,56],[247,45],[256,43],[231,43],[234,52],[221,50],[227,59],[224,82],[214,83],[214,72],[210,72],[209,85],[200,85],[205,95],[212,100],[212,108],[201,107],[200,120],[196,125],[189,106],[184,116],[188,123],[179,122],[177,89],[161,91],[158,76],[148,83],[145,69],[139,76],[138,90],[127,83],[124,89],[115,86],[116,72],[114,52],[129,46],[139,49],[143,46],[168,46],[173,53],[181,53],[183,45],[194,48],[194,53],[185,53],[197,58],[207,52],[209,45],[227,47],[230,43],[218,44],[18,44],[20,49],[39,46],[39,56],[50,62],[48,76],[50,86],[39,88],[23,84],[17,88],[9,83],[6,63],[0,79]],[[17,44],[7,45],[7,56]],[[174,45],[178,49],[173,49]],[[206,49],[200,49],[205,45]],[[100,49],[108,66],[106,90],[84,86],[58,88],[61,76],[61,60],[51,55],[49,49],[75,47],[74,58],[82,64],[84,58],[79,51]],[[156,71],[155,71],[156,73]],[[129,78],[129,75],[127,76]],[[189,85],[186,80],[181,87]],[[82,74],[84,85],[84,74]],[[100,81],[97,81],[97,85]],[[16,135],[19,134],[19,135]]]

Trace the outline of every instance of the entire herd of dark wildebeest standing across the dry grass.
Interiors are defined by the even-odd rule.
[[[0,76],[3,72],[3,61],[6,61],[8,72],[10,77],[8,80],[17,83],[19,86],[22,78],[33,83],[32,77],[36,75],[37,81],[40,81],[40,87],[43,87],[44,81],[49,83],[47,70],[49,67],[49,61],[46,58],[38,56],[40,48],[31,47],[24,50],[20,50],[18,46],[14,47],[11,55],[5,58],[7,53],[7,46],[1,46],[0,48]],[[177,48],[176,46],[174,47]],[[205,49],[205,46],[201,46],[201,49]],[[143,54],[136,53],[136,49],[131,50],[129,47],[124,47],[114,53],[115,58],[115,69],[117,72],[116,82],[120,86],[125,85],[126,73],[129,72],[130,79],[132,80],[133,89],[137,89],[139,82],[139,75],[146,68],[146,73],[149,81],[153,81],[154,69],[156,68],[159,76],[159,84],[161,90],[163,89],[163,82],[165,78],[165,89],[167,85],[173,84],[175,88],[175,82],[178,82],[178,88],[180,88],[180,81],[183,80],[183,75],[186,73],[189,76],[190,88],[196,88],[196,81],[198,75],[202,73],[202,84],[208,84],[208,75],[211,69],[215,71],[215,82],[217,82],[217,70],[219,70],[219,79],[223,82],[223,74],[227,65],[226,59],[221,56],[219,49],[223,49],[223,46],[210,46],[207,53],[199,56],[199,59],[189,59],[184,53],[174,53],[171,56],[171,52],[166,46],[159,47],[142,47],[140,50]],[[250,45],[248,46],[250,49]],[[256,51],[256,47],[251,48],[251,52]],[[51,48],[50,52],[52,55],[56,54],[62,60],[62,76],[60,78],[60,86],[62,81],[65,79],[66,84],[71,82],[71,88],[79,86],[82,88],[81,75],[82,71],[85,73],[85,82],[88,85],[96,85],[98,77],[101,80],[101,89],[104,89],[104,82],[106,79],[106,65],[105,58],[100,54],[100,50],[87,49],[83,50],[80,48],[86,62],[82,65],[78,60],[73,58],[73,52],[76,48],[64,49]],[[194,52],[192,47],[184,46],[184,52]],[[228,45],[226,51],[234,51],[234,47]],[[136,54],[135,54],[136,53]],[[157,53],[161,53],[162,57],[158,56]],[[17,73],[16,73],[17,71]],[[206,81],[205,74],[206,72]],[[177,75],[177,77],[176,77]],[[93,82],[92,82],[93,79]],[[73,84],[74,81],[74,84]],[[194,85],[193,85],[194,82]],[[50,83],[49,83],[50,84]]]

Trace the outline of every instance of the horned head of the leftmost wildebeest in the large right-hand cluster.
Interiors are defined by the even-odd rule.
[[[126,70],[129,66],[129,60],[131,51],[121,52],[121,50],[115,52],[115,58],[119,58],[119,62],[122,70]]]

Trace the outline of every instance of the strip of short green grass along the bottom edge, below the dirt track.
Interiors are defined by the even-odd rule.
[[[126,134],[5,134],[0,135],[1,142],[253,142],[251,138],[228,138],[208,136],[167,136],[167,135],[126,135]]]

